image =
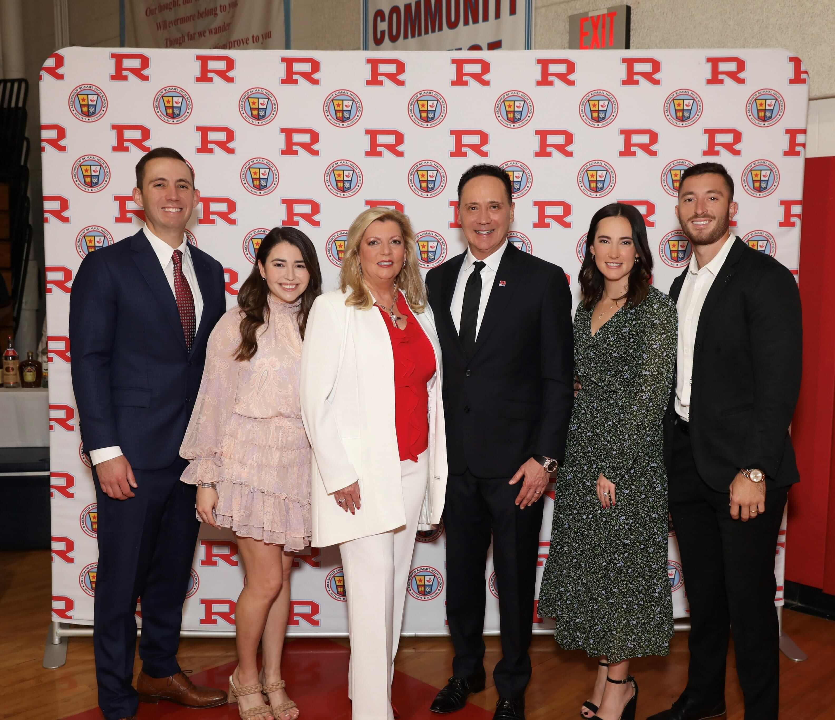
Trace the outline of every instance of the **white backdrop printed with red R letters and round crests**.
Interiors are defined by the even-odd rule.
[[[421,265],[438,266],[465,248],[456,188],[481,162],[512,179],[510,241],[561,266],[576,300],[590,217],[615,200],[644,215],[655,285],[669,288],[691,256],[674,214],[681,172],[706,160],[725,164],[736,182],[733,231],[797,274],[806,114],[807,73],[783,50],[54,53],[41,74],[53,619],[92,622],[97,574],[95,494],[70,381],[69,293],[85,255],[142,226],[131,190],[144,152],[174,147],[194,167],[202,196],[189,240],[225,266],[230,307],[261,238],[278,225],[311,237],[333,289],[347,227],[372,205],[406,212]],[[540,566],[553,497],[551,486]],[[685,617],[686,578],[670,535],[671,591]],[[403,629],[443,633],[443,530],[418,540]],[[338,550],[308,549],[296,565],[290,632],[347,631]],[[233,629],[242,581],[235,537],[201,530],[184,628]],[[492,565],[486,581],[486,629],[498,630]],[[535,607],[532,619],[549,627]]]

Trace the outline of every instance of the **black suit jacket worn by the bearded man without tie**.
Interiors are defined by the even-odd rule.
[[[802,365],[797,282],[772,257],[732,242],[699,316],[690,406],[696,469],[723,492],[745,468],[762,469],[770,485],[800,479],[788,434]],[[676,302],[686,274],[671,286]],[[664,423],[668,470],[675,399],[674,382]]]

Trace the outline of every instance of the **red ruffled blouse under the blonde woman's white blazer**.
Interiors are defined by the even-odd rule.
[[[388,312],[380,308],[394,352],[397,449],[401,460],[417,462],[417,456],[429,447],[429,393],[426,384],[435,374],[435,352],[400,292],[397,293],[397,310],[407,318],[405,330],[394,327]]]

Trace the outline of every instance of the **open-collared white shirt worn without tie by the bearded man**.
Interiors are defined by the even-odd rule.
[[[693,384],[693,351],[696,345],[696,330],[699,327],[701,307],[705,304],[707,293],[725,264],[735,236],[729,236],[721,250],[704,267],[699,267],[696,253],[690,256],[687,275],[681,285],[676,309],[679,316],[678,351],[676,353],[676,413],[690,422],[690,393]]]

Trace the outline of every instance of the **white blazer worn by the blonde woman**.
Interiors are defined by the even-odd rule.
[[[301,351],[301,419],[313,449],[312,545],[325,547],[406,525],[394,425],[392,341],[376,307],[347,307],[348,293],[326,292],[307,317]],[[432,311],[414,313],[435,352],[429,393],[429,480],[420,529],[441,520],[447,489],[447,437],[441,347]],[[359,480],[356,515],[333,493]]]

